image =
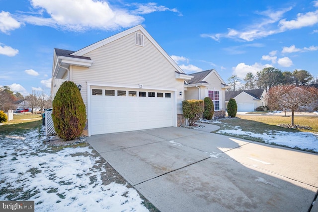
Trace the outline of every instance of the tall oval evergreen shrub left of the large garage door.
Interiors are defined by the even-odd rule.
[[[86,112],[78,86],[72,81],[63,82],[52,105],[52,119],[58,136],[65,141],[79,138],[85,127]]]

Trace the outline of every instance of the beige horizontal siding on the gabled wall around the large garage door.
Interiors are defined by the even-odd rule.
[[[87,81],[136,87],[143,84],[145,88],[175,89],[177,94],[183,91],[183,80],[175,79],[175,68],[146,36],[144,47],[135,45],[135,33],[131,33],[83,56],[90,57],[94,63],[89,69],[72,67],[72,80],[82,85],[86,105]],[[178,114],[182,114],[182,99],[183,95],[177,95]]]

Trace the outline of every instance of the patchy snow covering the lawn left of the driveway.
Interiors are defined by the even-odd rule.
[[[90,147],[53,152],[37,130],[0,136],[0,200],[35,201],[35,211],[145,212],[133,188],[102,185],[106,170]]]

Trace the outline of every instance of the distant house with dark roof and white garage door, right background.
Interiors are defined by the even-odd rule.
[[[226,91],[226,104],[231,98],[234,98],[238,105],[238,112],[251,112],[255,111],[257,107],[265,106],[265,96],[267,92],[265,89],[255,90],[238,90],[238,91]]]

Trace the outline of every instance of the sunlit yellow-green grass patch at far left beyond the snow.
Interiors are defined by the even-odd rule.
[[[0,134],[10,135],[23,134],[27,130],[38,128],[42,124],[42,115],[21,114],[13,115],[13,120],[3,123],[0,126]]]

